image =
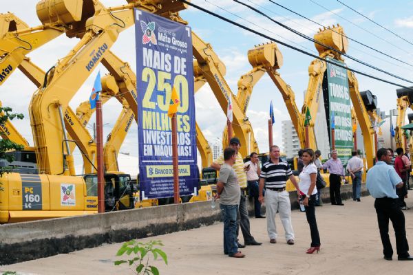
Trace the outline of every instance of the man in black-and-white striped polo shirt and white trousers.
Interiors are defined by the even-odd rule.
[[[277,243],[277,228],[275,227],[275,214],[279,212],[279,217],[286,232],[286,241],[289,245],[294,244],[294,231],[291,224],[291,204],[290,196],[286,191],[286,181],[294,184],[299,195],[299,187],[293,172],[279,158],[279,147],[274,145],[270,148],[270,160],[264,164],[260,175],[260,197],[258,200],[261,203],[265,201],[267,232],[270,237],[270,243]],[[262,196],[262,190],[266,188],[265,199]]]

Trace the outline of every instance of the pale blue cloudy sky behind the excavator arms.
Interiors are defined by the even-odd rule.
[[[297,15],[292,14],[273,3],[266,0],[243,0],[245,3],[253,5],[255,8],[259,8],[273,19],[281,21],[282,23],[303,32],[308,36],[312,36],[317,32],[319,26],[315,23],[310,23],[305,19],[299,18]],[[14,12],[20,19],[28,23],[30,27],[39,25],[39,19],[36,17],[36,0],[14,0],[14,1],[2,1],[1,12]],[[127,3],[122,0],[102,0],[107,6],[123,5]],[[355,10],[365,14],[368,18],[380,23],[402,36],[410,43],[407,43],[398,37],[394,36],[390,32],[383,30],[378,25],[368,21],[361,17],[361,15],[353,12],[352,10],[341,5],[338,1],[326,1],[326,0],[299,0],[299,1],[275,1],[280,3],[295,12],[303,14],[314,21],[317,21],[323,25],[332,25],[339,23],[343,26],[346,34],[361,43],[374,47],[377,50],[385,52],[395,58],[399,58],[406,63],[413,64],[413,1],[343,1]],[[321,8],[319,3],[323,5]],[[288,32],[288,30],[280,28],[272,21],[261,17],[251,10],[244,8],[243,6],[235,3],[231,0],[194,0],[193,3],[202,5],[208,10],[218,12],[224,17],[228,17],[233,21],[237,21],[242,25],[253,28],[264,34],[268,34],[275,39],[290,43],[296,47],[317,54],[315,45],[310,41],[306,41],[301,37]],[[216,8],[214,5],[220,5],[226,11]],[[230,13],[231,12],[231,13]],[[226,81],[231,86],[234,94],[237,93],[237,81],[240,76],[246,74],[251,70],[251,65],[248,63],[246,53],[254,45],[267,42],[260,36],[248,33],[240,28],[237,28],[229,23],[220,21],[211,17],[209,14],[204,14],[194,8],[189,8],[184,12],[181,12],[181,17],[189,22],[193,31],[198,34],[204,41],[211,43],[215,52],[220,56],[220,59],[226,65]],[[252,25],[255,24],[255,25]],[[78,39],[69,39],[67,36],[62,35],[59,38],[50,41],[43,47],[32,52],[29,56],[32,61],[36,63],[43,70],[47,71],[59,58],[63,58],[67,55],[72,47],[76,45]],[[134,27],[125,30],[121,33],[118,41],[112,50],[115,54],[120,56],[124,61],[129,62],[132,68],[136,68],[136,55],[134,48]],[[295,98],[297,106],[301,109],[304,99],[304,91],[308,85],[308,65],[310,65],[313,58],[300,54],[293,50],[290,50],[284,46],[279,46],[284,56],[284,65],[279,69],[279,73],[282,78],[291,85],[295,91]],[[403,78],[413,80],[412,67],[394,61],[388,57],[377,54],[368,50],[366,47],[357,45],[356,43],[349,41],[348,54],[359,58],[367,63],[370,63],[381,69],[385,69],[388,72],[392,72]],[[409,83],[402,80],[396,80],[390,76],[385,76],[382,73],[368,69],[363,65],[359,65],[354,61],[346,59],[346,63],[349,67],[359,69],[362,72],[367,72],[384,78],[392,80],[396,83],[409,86]],[[107,70],[102,65],[99,66],[101,74],[107,74]],[[81,87],[76,96],[70,102],[72,109],[76,109],[78,104],[84,100],[88,100],[89,93],[92,89],[92,83],[96,76],[96,70],[94,74],[89,76],[87,82]],[[359,89],[364,91],[370,89],[373,94],[377,95],[379,101],[379,107],[381,110],[388,111],[396,108],[396,89],[393,85],[381,83],[377,80],[371,80],[363,76],[357,76],[359,80]],[[410,83],[410,85],[412,85]],[[0,87],[2,91],[1,101],[4,106],[10,106],[16,112],[21,112],[25,115],[25,119],[19,122],[14,122],[21,134],[33,144],[32,132],[30,129],[30,120],[28,115],[28,105],[32,93],[36,90],[36,87],[26,78],[21,72],[17,71],[10,76],[7,83],[4,83]],[[273,100],[275,107],[275,127],[274,127],[274,143],[282,145],[282,132],[281,122],[282,120],[289,120],[288,113],[282,100],[282,96],[268,76],[264,76],[253,90],[253,95],[248,107],[246,115],[253,125],[255,137],[260,146],[260,151],[266,151],[268,147],[268,133],[267,133],[267,120],[269,102]],[[214,142],[217,138],[222,137],[222,129],[226,121],[225,113],[220,109],[217,100],[214,98],[213,93],[209,86],[205,85],[195,95],[196,106],[196,120],[202,129],[202,132],[207,137],[207,140]],[[110,100],[104,107],[104,122],[105,135],[109,134],[116,122],[118,113],[121,111],[121,106],[113,99]],[[213,120],[211,119],[213,118]],[[91,120],[91,124],[94,119]],[[91,129],[92,133],[92,129]],[[137,148],[137,126],[134,124],[129,130],[127,140],[121,148],[122,152],[130,153],[131,155],[138,155]],[[78,152],[76,152],[78,154]],[[78,159],[78,158],[76,158]],[[138,164],[136,164],[137,166]],[[125,168],[126,169],[126,168]],[[129,170],[129,169],[128,169]]]

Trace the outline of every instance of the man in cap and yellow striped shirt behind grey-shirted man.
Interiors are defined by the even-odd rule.
[[[242,155],[238,152],[241,147],[240,139],[237,137],[231,138],[229,141],[229,146],[231,148],[235,149],[235,153],[237,154],[237,159],[235,164],[233,165],[233,168],[235,170],[235,173],[237,173],[237,180],[238,184],[240,184],[241,188],[241,198],[240,198],[240,205],[238,206],[238,213],[237,213],[237,237],[240,232],[240,227],[241,227],[241,232],[242,236],[244,237],[244,243],[245,245],[262,245],[262,243],[258,243],[255,241],[253,235],[251,235],[250,232],[250,222],[248,218],[248,209],[246,208],[246,197],[245,197],[245,190],[246,190],[246,170],[248,168],[244,168],[244,160],[242,159]],[[224,157],[223,155],[220,155],[217,159],[215,159],[211,167],[214,168],[215,170],[220,170],[221,165],[224,164]],[[241,243],[237,242],[238,248],[244,248],[245,245],[242,245]]]

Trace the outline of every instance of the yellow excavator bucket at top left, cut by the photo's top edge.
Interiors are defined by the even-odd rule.
[[[41,0],[36,5],[41,23],[67,25],[82,19],[83,0]]]

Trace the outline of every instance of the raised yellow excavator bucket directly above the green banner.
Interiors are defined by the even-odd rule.
[[[346,53],[348,50],[348,39],[346,37],[346,34],[344,33],[343,27],[338,24],[337,27],[335,27],[335,25],[332,25],[332,28],[324,28],[324,30],[320,29],[320,31],[315,34],[314,39],[321,44],[332,47],[333,49],[343,53]],[[319,45],[317,43],[315,43],[315,47],[319,54],[322,54],[329,50],[327,47],[324,47],[323,45]]]

